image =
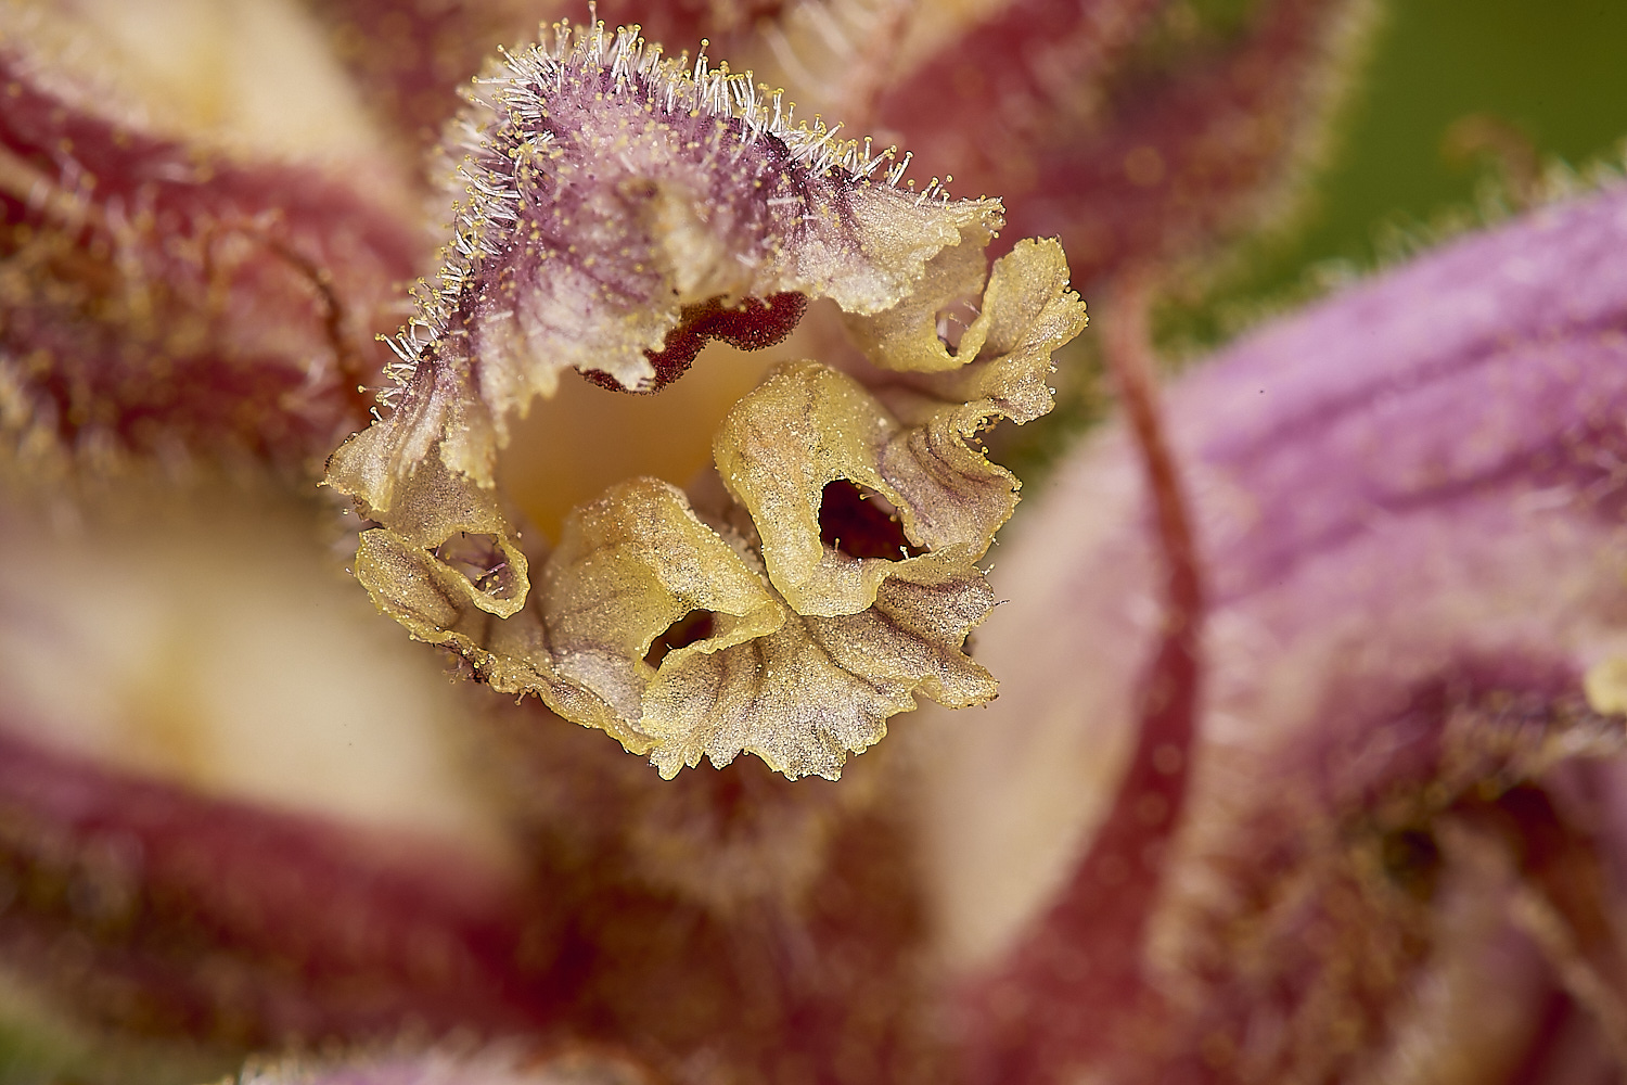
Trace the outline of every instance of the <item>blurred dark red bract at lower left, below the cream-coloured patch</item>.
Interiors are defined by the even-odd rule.
[[[550,1018],[506,875],[0,732],[0,943],[98,1025],[223,1048]],[[527,909],[530,917],[527,919]]]

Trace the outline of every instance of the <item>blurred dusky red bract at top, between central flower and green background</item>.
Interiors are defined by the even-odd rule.
[[[1370,5],[1264,0],[1237,41],[1147,72],[1126,54],[1150,7],[1012,5],[892,88],[877,124],[923,172],[1001,192],[1014,236],[1061,236],[1085,285],[1280,216]]]

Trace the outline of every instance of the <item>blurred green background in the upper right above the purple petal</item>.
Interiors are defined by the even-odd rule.
[[[1524,140],[1538,164],[1619,158],[1627,137],[1627,2],[1391,0],[1381,5],[1310,207],[1168,330],[1212,345],[1318,293],[1333,262],[1367,270],[1402,236],[1477,220],[1487,156],[1451,155],[1466,117]],[[1481,125],[1482,129],[1485,125]]]

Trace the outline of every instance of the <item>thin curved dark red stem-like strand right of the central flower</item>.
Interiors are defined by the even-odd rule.
[[[1118,283],[1106,359],[1154,499],[1163,560],[1163,628],[1141,683],[1139,737],[1118,797],[1051,909],[1005,966],[970,997],[975,1082],[1048,1082],[1100,1061],[1149,1009],[1147,917],[1163,887],[1170,838],[1186,799],[1201,683],[1202,579],[1163,431],[1147,345],[1149,283]]]

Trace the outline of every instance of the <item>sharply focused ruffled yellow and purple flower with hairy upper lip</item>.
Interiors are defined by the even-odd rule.
[[[467,203],[397,340],[390,410],[329,465],[379,522],[356,556],[379,608],[664,776],[750,752],[836,778],[916,695],[994,696],[963,646],[1019,483],[975,436],[1049,410],[1051,351],[1085,322],[1056,242],[1019,244],[984,286],[997,202],[872,179],[890,153],[792,129],[750,76],[662,60],[636,29],[556,28],[506,57],[465,130]],[[815,361],[776,368],[714,439],[735,508],[612,486],[532,590],[493,485],[508,416],[561,369],[659,387],[685,320],[753,345],[796,294],[835,301],[908,389],[883,405]],[[947,348],[940,311],[979,294]]]

